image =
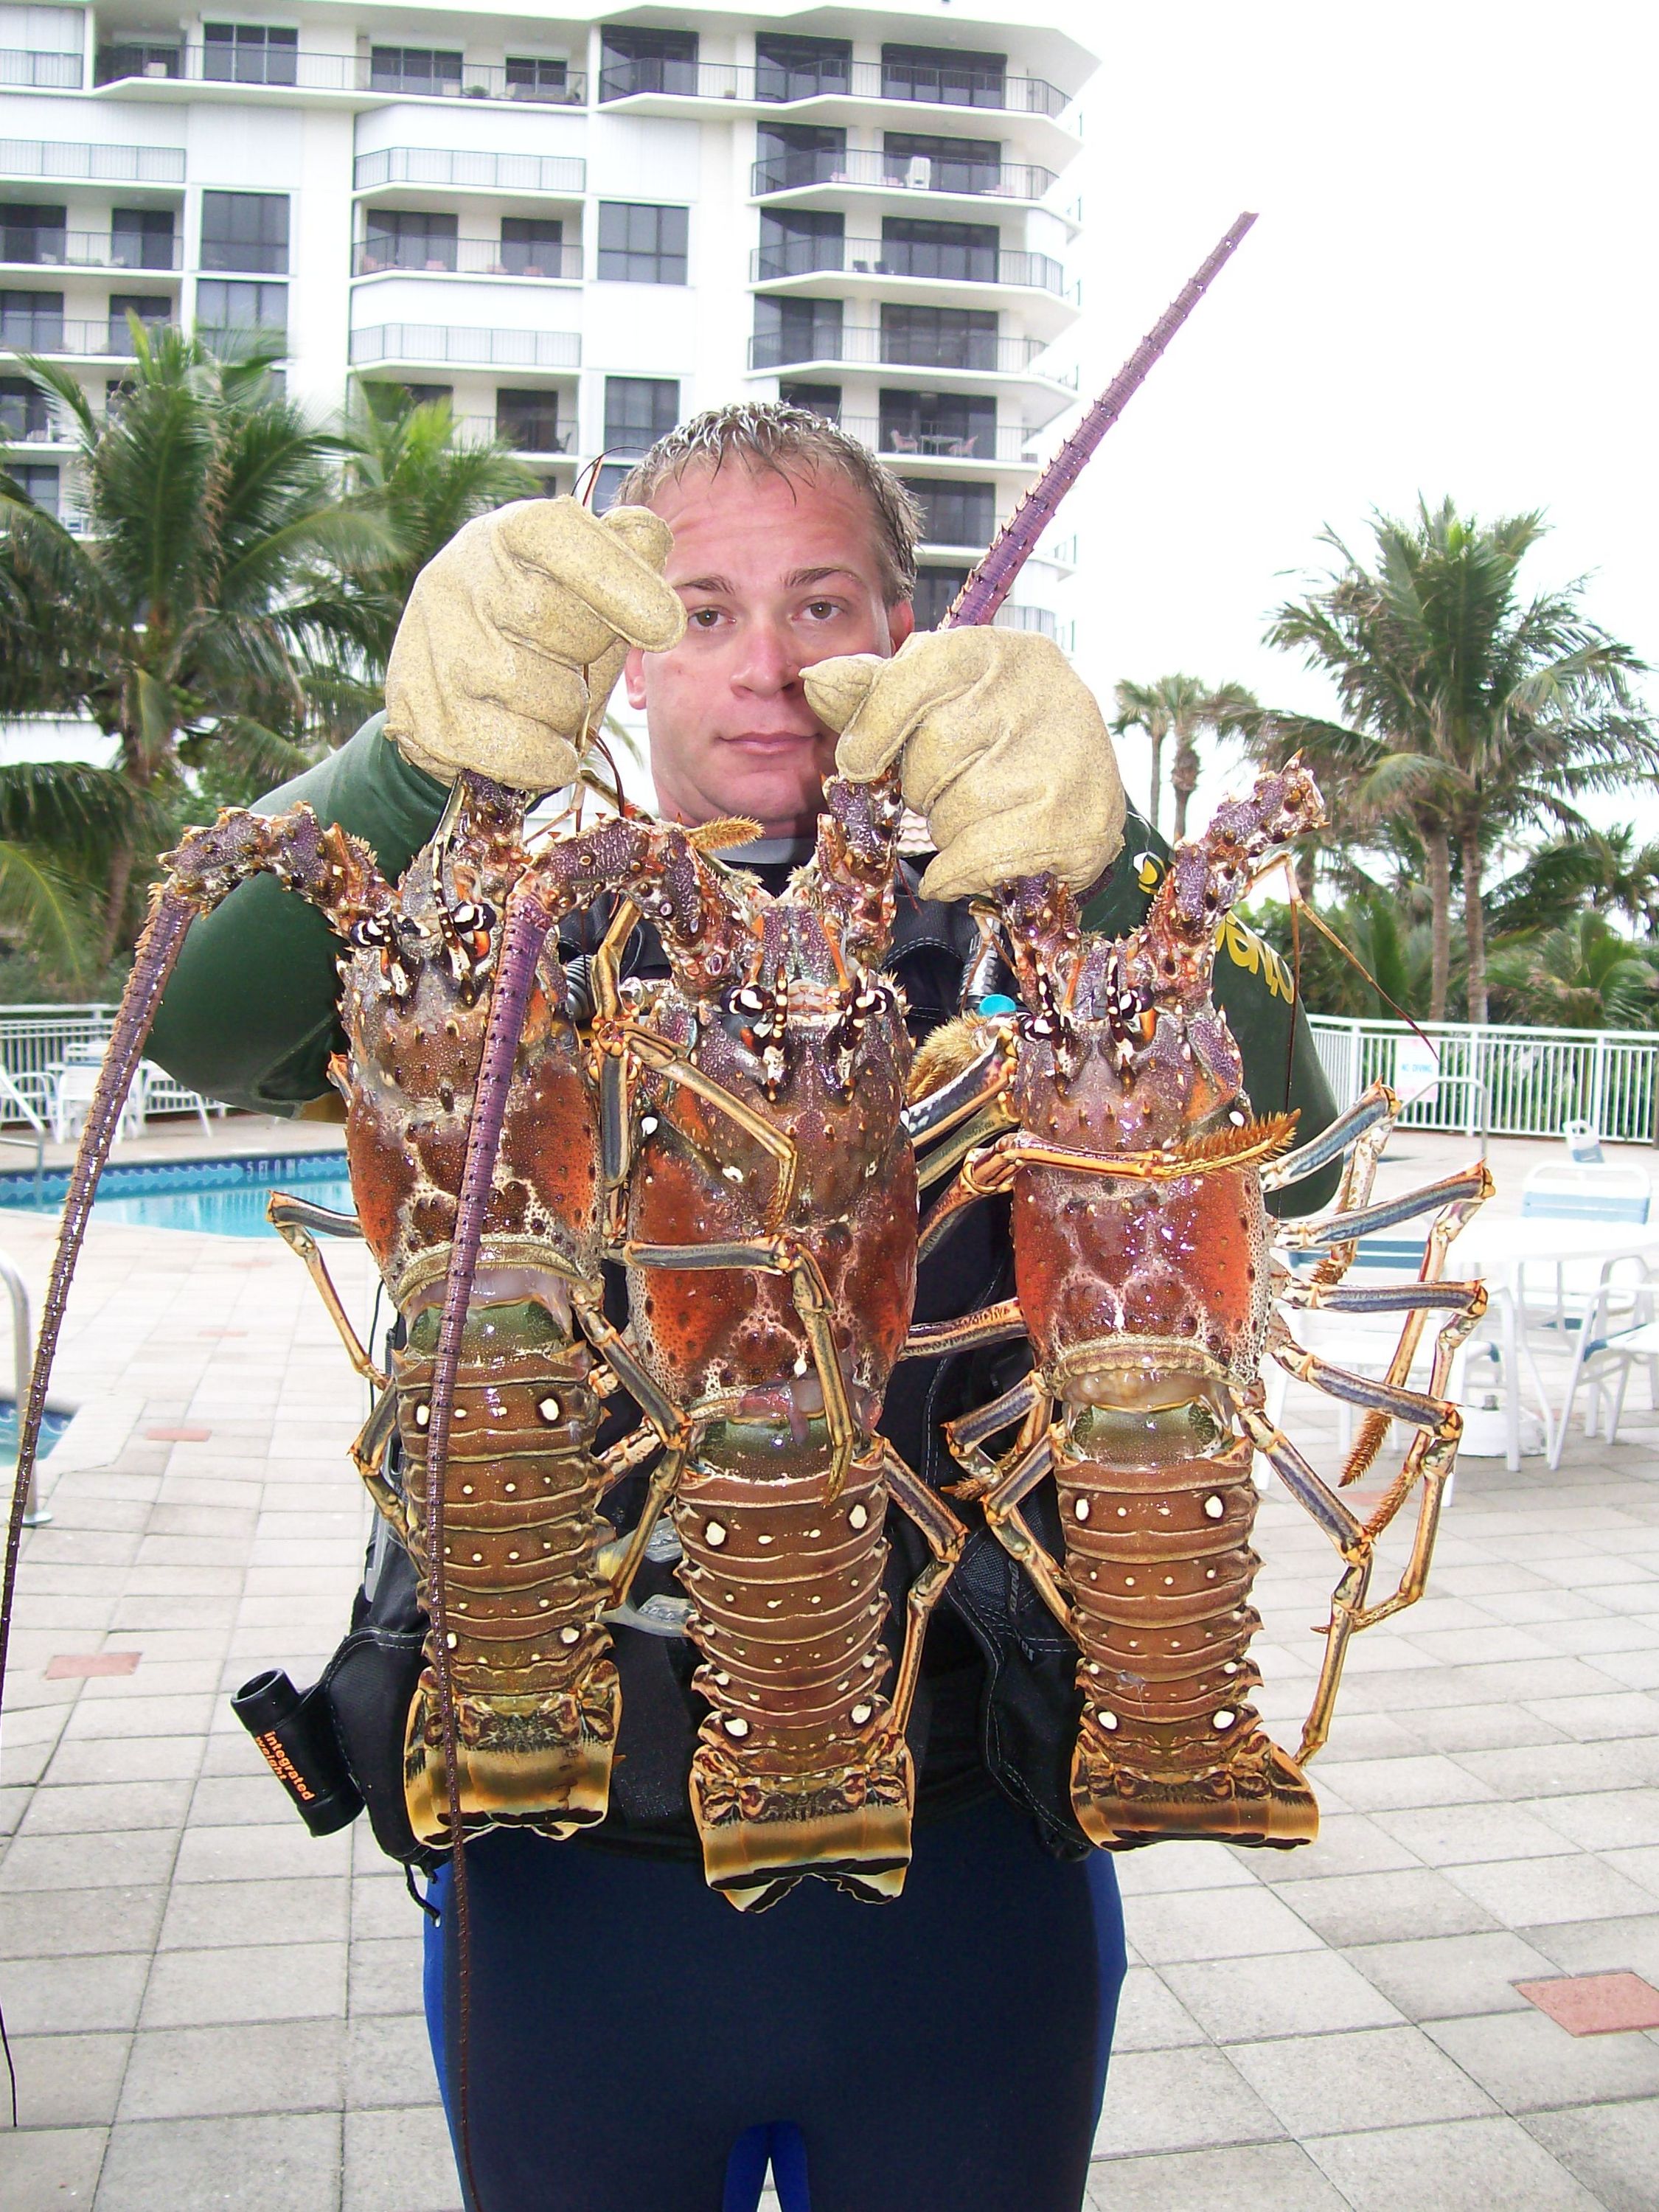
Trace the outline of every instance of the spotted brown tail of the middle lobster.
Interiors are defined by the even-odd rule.
[[[896,1898],[916,1776],[885,1697],[883,1460],[856,1460],[825,1504],[821,1467],[721,1458],[681,1478],[675,1509],[714,1708],[692,1759],[703,1874],[741,1911],[807,1874]]]

